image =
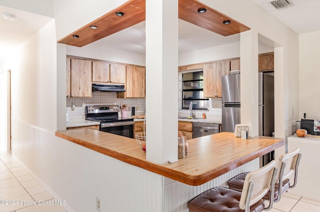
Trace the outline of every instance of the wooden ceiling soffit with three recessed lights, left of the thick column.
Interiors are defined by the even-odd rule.
[[[116,16],[115,12],[117,11],[123,12],[124,15]],[[145,0],[129,0],[98,19],[63,37],[58,40],[58,42],[81,47],[143,20],[145,20]],[[95,25],[98,28],[91,29],[91,25]],[[73,38],[74,34],[79,37]]]

